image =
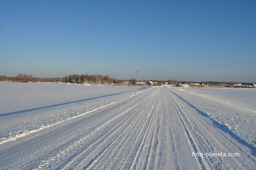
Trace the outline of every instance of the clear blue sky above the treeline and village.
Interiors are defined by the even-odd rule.
[[[0,75],[256,81],[256,1],[2,0]],[[250,63],[254,62],[254,63]]]

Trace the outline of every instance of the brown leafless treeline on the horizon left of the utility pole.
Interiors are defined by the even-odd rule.
[[[0,76],[0,81],[12,81],[12,82],[69,82],[69,83],[89,83],[89,84],[106,84],[115,83],[115,78],[109,76],[102,76],[100,74],[72,74],[65,77],[59,78],[37,78],[31,74],[18,74],[15,77]]]

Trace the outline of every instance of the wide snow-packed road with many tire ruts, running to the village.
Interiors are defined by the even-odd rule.
[[[250,170],[255,156],[254,146],[166,87],[0,144],[1,169]]]

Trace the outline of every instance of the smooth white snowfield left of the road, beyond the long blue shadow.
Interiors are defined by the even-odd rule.
[[[113,85],[0,82],[0,114],[134,90]]]

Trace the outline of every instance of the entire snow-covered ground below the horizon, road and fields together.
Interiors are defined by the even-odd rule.
[[[0,169],[256,167],[256,89],[0,82],[0,95]]]

